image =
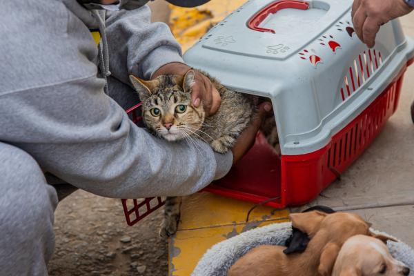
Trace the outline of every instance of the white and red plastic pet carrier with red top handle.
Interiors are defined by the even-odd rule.
[[[374,48],[359,41],[351,0],[247,1],[184,59],[230,89],[273,103],[282,155],[264,137],[205,190],[275,208],[305,204],[350,166],[395,112],[413,41],[400,21]]]

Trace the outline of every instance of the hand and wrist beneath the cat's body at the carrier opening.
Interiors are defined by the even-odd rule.
[[[272,105],[268,101],[259,105],[257,115],[250,125],[242,132],[242,135],[237,139],[235,146],[231,149],[233,152],[233,165],[242,159],[253,144],[255,144],[257,132],[259,131],[260,126],[262,126],[264,118],[266,118],[271,110]]]

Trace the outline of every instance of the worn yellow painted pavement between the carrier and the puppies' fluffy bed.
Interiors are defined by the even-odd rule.
[[[181,206],[181,221],[169,241],[169,275],[190,275],[208,248],[247,230],[288,221],[288,210],[255,206],[246,201],[211,193],[186,197]]]

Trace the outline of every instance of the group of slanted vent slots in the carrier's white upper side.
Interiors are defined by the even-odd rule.
[[[345,101],[367,81],[381,66],[381,52],[368,49],[362,52],[349,67],[344,77],[344,83],[340,89],[342,101]]]

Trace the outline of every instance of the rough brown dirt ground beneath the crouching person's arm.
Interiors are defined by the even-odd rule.
[[[55,213],[50,276],[167,275],[167,241],[158,235],[161,210],[127,226],[121,201],[78,190]]]

